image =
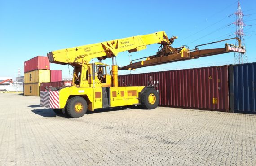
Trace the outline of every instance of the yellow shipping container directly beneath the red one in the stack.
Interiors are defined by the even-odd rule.
[[[24,74],[24,83],[50,82],[50,70],[34,70]]]

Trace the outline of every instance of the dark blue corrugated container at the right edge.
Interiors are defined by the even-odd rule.
[[[256,63],[229,66],[230,112],[256,112]]]

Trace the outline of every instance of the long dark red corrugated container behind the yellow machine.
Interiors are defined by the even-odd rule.
[[[159,81],[162,106],[229,112],[228,66],[120,75],[119,86]]]

